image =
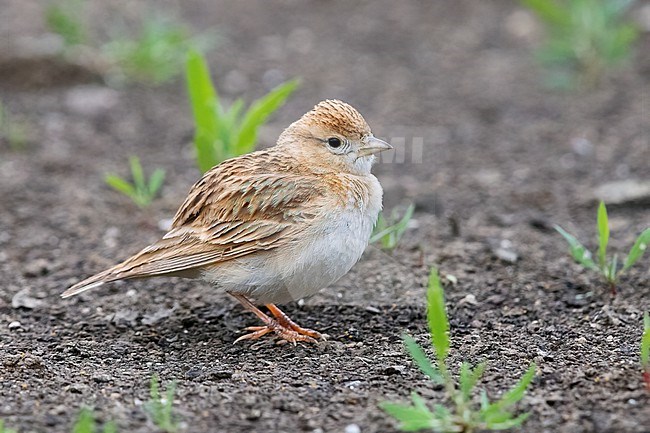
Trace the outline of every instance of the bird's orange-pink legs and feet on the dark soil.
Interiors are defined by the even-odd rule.
[[[249,326],[246,331],[253,331],[250,334],[242,335],[235,343],[240,340],[257,340],[258,338],[270,332],[275,332],[282,340],[296,344],[298,341],[317,343],[318,339],[325,339],[319,332],[312,329],[302,328],[297,325],[274,304],[267,304],[275,319],[269,317],[257,308],[251,301],[242,294],[228,292],[229,295],[237,299],[247,310],[251,311],[264,322],[264,326]]]

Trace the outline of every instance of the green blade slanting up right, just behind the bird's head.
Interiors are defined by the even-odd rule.
[[[299,84],[298,80],[287,81],[251,104],[244,115],[235,141],[238,154],[248,153],[255,148],[259,127],[267,121],[271,114],[284,105]]]

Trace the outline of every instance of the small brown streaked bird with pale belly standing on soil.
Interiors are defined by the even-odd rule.
[[[321,101],[274,146],[207,171],[160,240],[61,296],[118,280],[199,279],[262,321],[235,342],[269,333],[294,345],[324,340],[276,304],[314,295],[361,258],[382,209],[383,191],[371,167],[389,149],[351,105]]]

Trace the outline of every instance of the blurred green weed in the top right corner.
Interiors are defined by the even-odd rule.
[[[594,87],[627,60],[638,37],[625,19],[634,0],[521,0],[546,27],[537,56],[552,87]]]

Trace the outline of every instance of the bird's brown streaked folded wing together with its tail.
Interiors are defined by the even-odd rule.
[[[124,262],[70,287],[63,296],[105,282],[188,274],[207,265],[289,246],[314,217],[307,204],[324,191],[313,176],[260,167],[253,158],[226,161],[190,190],[171,230]]]

